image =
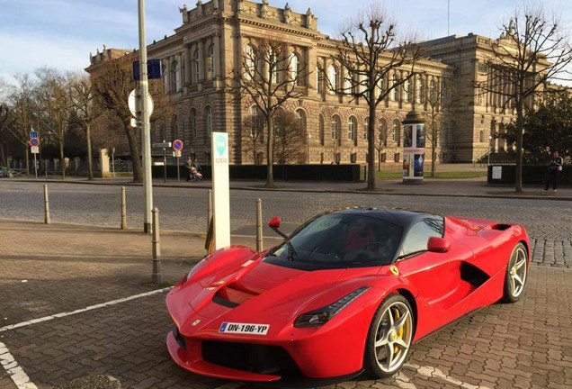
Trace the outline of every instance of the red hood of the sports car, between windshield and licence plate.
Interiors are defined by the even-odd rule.
[[[286,329],[300,313],[334,303],[371,284],[379,268],[304,271],[264,262],[264,253],[243,252],[240,263],[209,271],[207,265],[167,296],[167,307],[183,334],[213,331],[223,321],[271,324]],[[197,319],[198,318],[198,319]],[[200,322],[200,324],[198,324]]]

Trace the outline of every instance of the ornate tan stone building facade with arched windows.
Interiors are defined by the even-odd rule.
[[[335,41],[318,31],[317,17],[308,12],[298,14],[287,4],[283,8],[268,5],[267,0],[201,0],[193,9],[183,6],[182,25],[174,35],[148,46],[150,59],[161,59],[165,90],[174,107],[174,116],[166,122],[153,122],[152,140],[181,139],[185,154],[207,162],[210,132],[227,131],[231,161],[253,163],[253,156],[243,152],[242,122],[252,112],[248,104],[232,103],[226,77],[242,64],[242,53],[251,38],[279,38],[291,45],[301,64],[310,74],[301,80],[302,97],[285,107],[298,114],[306,134],[309,163],[364,163],[367,153],[367,104],[360,99],[336,95],[330,91],[318,69],[326,77],[341,82],[340,71],[331,59]],[[425,58],[408,86],[396,89],[380,104],[376,128],[385,146],[382,163],[402,161],[403,127],[401,121],[412,109],[427,111],[426,94],[442,85],[445,77],[455,79],[462,93],[454,125],[443,129],[437,145],[438,159],[444,162],[470,162],[487,153],[491,131],[498,131],[513,113],[501,110],[493,95],[479,95],[473,83],[482,77],[481,63],[490,56],[487,38],[469,34],[450,36],[422,44]],[[104,60],[116,58],[125,50],[106,49],[91,56],[86,70],[96,71]],[[118,54],[119,53],[119,54]],[[398,70],[401,77],[406,69]],[[502,130],[502,127],[501,127]],[[492,147],[502,149],[498,140]],[[426,152],[426,160],[430,153]]]

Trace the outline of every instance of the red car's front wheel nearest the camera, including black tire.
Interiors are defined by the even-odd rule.
[[[411,305],[401,294],[389,294],[371,321],[365,345],[363,366],[375,377],[394,375],[409,354],[415,317]]]

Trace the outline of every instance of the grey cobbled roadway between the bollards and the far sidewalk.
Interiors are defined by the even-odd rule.
[[[52,220],[116,226],[120,222],[120,192],[119,187],[111,185],[51,184]],[[572,202],[568,201],[237,190],[231,191],[230,195],[231,228],[235,233],[254,234],[255,199],[258,197],[263,200],[264,218],[281,215],[287,230],[336,206],[377,204],[520,223],[531,236],[534,263],[572,267]],[[206,189],[156,187],[154,197],[161,211],[162,228],[205,231]],[[127,188],[127,202],[130,227],[139,228],[142,225],[141,187]],[[43,185],[0,182],[0,218],[42,220]]]

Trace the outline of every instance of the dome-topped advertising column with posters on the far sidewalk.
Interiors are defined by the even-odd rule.
[[[403,121],[403,184],[423,184],[425,120],[411,111]]]

